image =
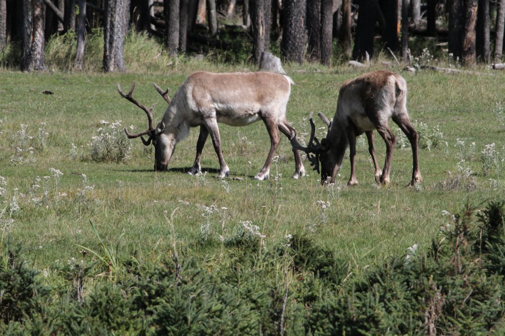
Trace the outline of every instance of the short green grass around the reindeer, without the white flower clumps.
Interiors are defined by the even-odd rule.
[[[332,117],[340,83],[361,73],[349,68],[332,68],[321,73],[294,66],[286,67],[286,71],[296,83],[288,104],[288,120],[298,134],[309,132],[304,120],[309,111],[323,111]],[[494,142],[498,151],[505,145],[503,128],[493,114],[505,90],[501,74],[401,73],[409,86],[411,118],[429,129],[438,125],[442,141],[447,144],[421,150],[424,182],[418,188],[405,187],[412,173],[409,148],[394,153],[392,184],[377,188],[365,140],[358,142],[360,184],[356,187],[344,187],[349,175],[347,159],[335,186],[321,187],[319,176],[310,171],[307,161],[308,176],[292,180],[294,160],[285,138],[277,150],[279,158],[272,165],[271,179],[254,181],[252,177],[263,165],[269,148],[268,135],[261,123],[246,128],[226,125],[220,128],[223,153],[232,177],[243,180],[223,182],[214,177],[219,164],[210,142],[202,159],[203,171],[208,174],[200,177],[184,174],[193,162],[197,129],[178,144],[167,173],[153,172],[154,153],[144,151],[140,141],[132,141],[131,159],[127,163],[97,163],[71,157],[72,144],[86,152],[102,120],[111,123],[121,120],[124,126],[145,128],[143,112],[119,96],[117,83],[126,90],[135,81],[134,96],[145,105],[156,103],[155,119],[160,120],[166,103],[151,83],[169,86],[173,94],[189,72],[178,69],[169,75],[0,73],[3,83],[0,175],[7,181],[6,193],[0,200],[7,207],[16,196],[20,206],[12,215],[15,221],[6,230],[6,236],[29,248],[28,259],[36,268],[51,268],[56,260],[79,258],[80,246],[99,250],[101,245],[90,222],[107,245],[115,246],[122,237],[119,253],[123,256],[164,254],[176,240],[197,255],[223,258],[219,236],[232,237],[240,222],[248,220],[260,227],[267,248],[278,245],[287,234],[308,235],[359,269],[380,263],[390,255],[403,254],[414,244],[428,246],[446,220],[443,210],[452,212],[466,202],[480,204],[505,196],[503,172],[500,176],[493,173],[484,176],[479,161],[486,144]],[[45,90],[54,94],[42,94]],[[27,132],[35,135],[41,122],[49,133],[45,148],[31,154],[34,162],[12,164],[20,125],[28,125]],[[317,123],[322,137],[324,124],[319,120]],[[476,154],[464,163],[474,172],[468,177],[476,184],[471,191],[461,186],[439,187],[439,181],[457,175],[460,161],[457,139],[476,143]],[[382,161],[385,147],[379,137],[376,146]],[[51,168],[63,173],[57,190]],[[82,174],[86,175],[88,186],[84,196],[79,195],[85,190]],[[29,194],[37,176],[42,184],[44,176],[50,177],[46,185],[34,192],[35,196],[42,195],[43,190],[48,192],[40,205],[21,195]],[[495,190],[490,189],[489,179],[497,181]],[[318,204],[320,200],[330,203],[324,211]],[[204,206],[213,205],[216,211],[204,217]],[[168,218],[175,209],[172,233]],[[209,228],[206,240],[201,238],[201,227],[205,224]]]

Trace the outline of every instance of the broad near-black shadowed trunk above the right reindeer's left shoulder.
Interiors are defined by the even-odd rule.
[[[373,56],[375,22],[377,22],[377,7],[373,1],[361,0],[359,3],[355,42],[352,49],[353,60],[363,60],[366,58],[366,53],[370,57]]]

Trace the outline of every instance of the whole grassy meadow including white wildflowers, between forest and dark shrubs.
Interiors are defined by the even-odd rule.
[[[230,242],[244,237],[254,238],[251,249],[259,259],[290,237],[305,237],[341,260],[345,279],[351,281],[392,256],[405,256],[413,246],[428,250],[452,222],[451,215],[466,204],[482,208],[505,199],[501,73],[392,69],[407,80],[407,106],[421,136],[424,180],[413,188],[406,187],[412,174],[410,145],[392,122],[398,145],[388,186],[374,182],[364,135],[357,149],[358,186],[345,186],[350,174],[347,156],[334,185],[321,186],[307,160],[307,176],[291,179],[294,159],[283,136],[270,179],[255,181],[270,146],[262,123],[244,128],[220,125],[230,178],[215,177],[219,163],[210,140],[203,152],[203,172],[186,174],[194,160],[197,129],[177,145],[169,171],[154,172],[154,150],[139,139],[126,139],[122,130],[130,125],[145,129],[145,115],[120,97],[117,84],[127,90],[135,82],[134,97],[146,106],[155,104],[158,122],[166,102],[152,83],[168,86],[173,95],[189,73],[202,67],[250,70],[244,65],[180,62],[152,74],[0,72],[3,253],[7,256],[7,245],[21,243],[26,265],[39,271],[41,283],[55,286],[64,283],[63,268],[81,260],[97,262],[87,270],[80,300],[92,296],[100,282],[111,277],[117,282],[131,258],[149,264],[178,260],[180,253],[195,259],[198,269],[219,274],[231,267],[238,253]],[[373,64],[370,70],[381,67]],[[300,143],[308,139],[309,112],[322,111],[332,118],[341,83],[365,72],[311,65],[285,70],[295,82],[287,119]],[[321,139],[326,127],[321,120],[316,123]],[[375,142],[382,163],[385,146],[378,135]],[[280,292],[286,286],[286,298],[279,299],[284,308],[287,289],[296,291],[303,279],[285,265],[274,262],[267,276],[280,284]],[[244,276],[261,268],[249,262],[243,267],[252,267]],[[296,323],[290,325],[294,328]]]

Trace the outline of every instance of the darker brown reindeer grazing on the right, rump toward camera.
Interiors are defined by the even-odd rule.
[[[308,146],[301,146],[296,138],[291,139],[291,144],[293,150],[299,149],[307,153],[311,165],[318,173],[321,161],[321,184],[335,182],[347,146],[350,151],[350,178],[347,185],[358,184],[355,174],[356,137],[362,133],[367,135],[368,151],[375,169],[375,181],[378,184],[389,184],[391,158],[396,143],[396,138],[388,125],[389,119],[392,119],[407,135],[412,146],[413,171],[409,186],[422,181],[418,159],[419,137],[407,113],[407,83],[401,76],[387,70],[379,70],[349,80],[340,87],[333,121],[330,122],[322,113],[318,115],[328,126],[326,138],[319,142],[314,136],[316,128],[311,112],[309,120],[312,132]],[[375,129],[386,143],[386,159],[382,171],[375,157],[373,133]]]

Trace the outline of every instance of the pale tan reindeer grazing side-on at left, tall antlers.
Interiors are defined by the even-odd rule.
[[[175,93],[172,100],[168,97],[168,90],[163,92],[156,84],[160,94],[169,103],[163,120],[153,126],[153,109],[147,109],[132,97],[135,84],[130,92],[125,94],[118,84],[118,91],[124,98],[143,109],[147,115],[148,129],[136,134],[130,134],[126,128],[128,138],[141,137],[144,145],[151,142],[155,147],[155,171],[166,171],[168,162],[174,152],[175,145],[187,137],[190,127],[200,127],[200,134],[196,143],[196,157],[189,170],[190,175],[200,172],[201,151],[207,137],[211,136],[214,150],[219,159],[219,178],[230,175],[221,151],[221,138],[218,123],[230,126],[246,126],[262,120],[270,135],[270,151],[261,171],[255,176],[256,180],[269,178],[272,158],[279,144],[279,130],[288,139],[296,137],[296,131],[286,120],[286,105],[293,81],[284,75],[257,73],[209,73],[195,72],[191,74]],[[145,140],[142,136],[148,135]],[[295,172],[293,178],[305,175],[305,168],[301,162],[298,149],[293,149]]]

